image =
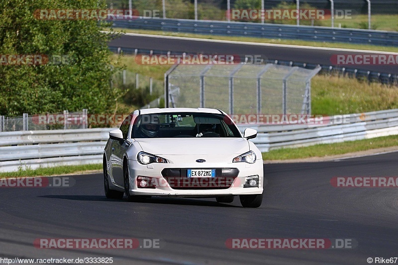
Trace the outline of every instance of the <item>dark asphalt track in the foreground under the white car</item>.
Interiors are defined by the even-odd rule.
[[[215,199],[108,200],[102,175],[69,188],[0,188],[0,258],[112,257],[113,264],[368,264],[398,256],[398,189],[336,188],[332,177],[397,177],[398,152],[267,164],[259,208]],[[160,249],[37,249],[37,238],[161,239]],[[354,239],[354,249],[231,250],[229,238]]]

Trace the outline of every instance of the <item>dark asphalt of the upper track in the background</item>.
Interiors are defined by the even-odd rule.
[[[304,62],[311,64],[331,65],[330,58],[333,55],[340,54],[364,54],[363,52],[341,51],[339,49],[319,50],[311,47],[295,48],[295,47],[279,47],[279,46],[263,46],[251,44],[236,44],[225,42],[208,42],[200,40],[172,39],[163,38],[162,36],[129,36],[123,35],[118,39],[114,39],[109,46],[131,48],[131,49],[147,49],[147,50],[163,50],[173,52],[187,52],[192,54],[223,54],[223,55],[261,55],[262,58],[288,60],[295,62]],[[377,54],[377,53],[372,53]],[[341,66],[342,67],[342,66]],[[398,74],[398,64],[395,65],[359,65],[345,66],[348,68],[357,68],[368,71],[378,71],[384,73]]]

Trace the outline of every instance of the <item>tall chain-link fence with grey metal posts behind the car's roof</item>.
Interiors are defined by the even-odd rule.
[[[166,78],[166,106],[310,114],[311,78],[319,71],[275,64],[178,65]]]

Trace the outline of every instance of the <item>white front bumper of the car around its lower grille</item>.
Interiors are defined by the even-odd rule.
[[[184,175],[186,169],[217,169],[223,174],[215,178],[187,178],[185,176],[165,176],[165,172],[181,169],[180,174]],[[165,170],[166,169],[166,170]],[[236,170],[235,170],[236,169]],[[152,163],[142,165],[138,161],[129,160],[130,172],[130,194],[151,195],[170,197],[214,197],[227,195],[261,194],[264,187],[263,161],[257,160],[254,164],[229,163],[220,166],[219,164],[207,164],[205,167],[198,167],[198,164],[160,164]],[[231,172],[235,174],[231,174]],[[234,176],[237,175],[237,176]],[[137,177],[149,177],[154,188],[142,188],[137,185]],[[258,187],[244,187],[248,177],[258,176]],[[182,185],[176,185],[176,183]],[[194,185],[192,185],[194,182]],[[188,185],[184,185],[186,183]],[[191,183],[191,184],[189,184]],[[246,185],[247,186],[247,185]]]

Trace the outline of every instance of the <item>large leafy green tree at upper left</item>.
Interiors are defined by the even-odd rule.
[[[0,55],[41,55],[47,64],[1,65],[0,113],[21,115],[88,108],[110,111],[118,91],[111,89],[107,42],[97,20],[42,20],[38,9],[100,9],[98,0],[0,0]],[[36,11],[37,12],[37,11]],[[9,58],[9,57],[8,57]],[[54,64],[53,59],[64,58]],[[4,59],[4,58],[2,58]]]

